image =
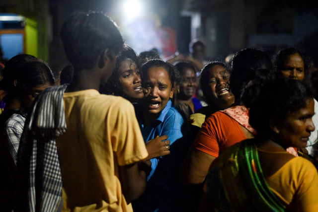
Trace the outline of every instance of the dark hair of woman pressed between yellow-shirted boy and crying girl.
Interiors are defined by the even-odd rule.
[[[112,75],[108,78],[107,83],[100,89],[100,92],[108,95],[124,97],[123,88],[119,83],[119,68],[122,65],[122,62],[124,62],[127,59],[130,59],[133,61],[134,64],[136,64],[137,69],[139,69],[139,61],[136,52],[128,45],[124,46],[123,51],[121,51],[117,55],[116,59],[117,60],[114,71]]]

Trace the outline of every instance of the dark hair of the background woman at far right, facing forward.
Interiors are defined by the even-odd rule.
[[[307,56],[305,56],[305,54],[300,49],[297,49],[295,47],[288,47],[285,49],[281,49],[274,56],[273,64],[274,64],[274,70],[275,70],[276,74],[280,74],[280,71],[284,70],[284,62],[285,62],[286,58],[290,55],[294,55],[297,53],[300,55],[300,57],[304,61],[304,71],[305,71],[305,75],[307,75],[307,73],[311,67],[310,59],[307,58]]]

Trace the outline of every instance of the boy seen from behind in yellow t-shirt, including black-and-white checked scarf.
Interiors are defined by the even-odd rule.
[[[122,36],[109,17],[91,11],[71,14],[61,39],[74,76],[34,101],[18,151],[17,211],[132,212],[146,186],[148,152],[133,105],[98,92]]]

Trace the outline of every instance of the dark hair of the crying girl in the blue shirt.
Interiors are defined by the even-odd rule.
[[[161,59],[152,59],[152,60],[146,62],[141,67],[141,72],[142,72],[143,76],[146,75],[146,73],[149,69],[154,68],[154,67],[162,67],[168,72],[168,75],[169,75],[169,78],[171,81],[171,88],[174,87],[175,82],[178,82],[180,80],[180,75],[178,74],[178,71],[176,70],[176,68],[173,65],[162,61]],[[142,82],[144,82],[144,79],[142,80]]]

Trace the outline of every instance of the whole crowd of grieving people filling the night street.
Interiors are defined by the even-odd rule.
[[[1,66],[0,211],[318,210],[318,90],[300,49],[206,61],[195,41],[161,59],[94,11],[60,35],[59,79],[31,55]]]

